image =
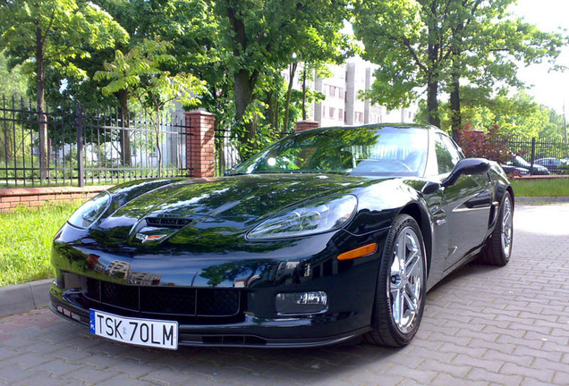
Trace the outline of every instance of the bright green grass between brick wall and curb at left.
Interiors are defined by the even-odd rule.
[[[79,206],[47,204],[0,214],[0,286],[52,277],[51,242]]]

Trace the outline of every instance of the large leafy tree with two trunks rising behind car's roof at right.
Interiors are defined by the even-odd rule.
[[[427,122],[440,125],[438,96],[451,98],[454,133],[461,127],[460,81],[480,88],[521,86],[519,62],[554,61],[561,34],[539,31],[506,13],[514,0],[358,0],[354,31],[378,63],[368,92],[389,108],[406,106],[427,90]]]

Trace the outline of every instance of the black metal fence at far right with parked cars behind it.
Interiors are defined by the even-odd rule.
[[[569,174],[569,141],[551,138],[509,138],[505,146],[514,155],[519,155],[527,161],[526,169],[530,174],[543,173],[536,165],[544,166],[550,174]],[[519,161],[514,160],[514,164]]]

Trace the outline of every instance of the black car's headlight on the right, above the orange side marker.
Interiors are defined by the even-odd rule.
[[[358,205],[354,196],[318,199],[261,222],[249,239],[283,239],[341,228]]]

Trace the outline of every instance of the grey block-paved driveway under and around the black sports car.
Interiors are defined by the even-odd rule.
[[[569,205],[519,206],[512,261],[429,292],[403,349],[163,351],[90,336],[47,309],[0,319],[0,384],[569,385]]]

